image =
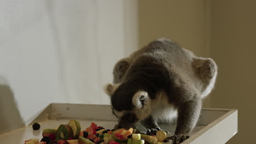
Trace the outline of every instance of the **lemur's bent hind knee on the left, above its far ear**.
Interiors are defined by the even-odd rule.
[[[123,58],[120,59],[114,66],[113,75],[114,75],[114,83],[120,83],[123,81],[123,77],[130,67],[131,59]]]

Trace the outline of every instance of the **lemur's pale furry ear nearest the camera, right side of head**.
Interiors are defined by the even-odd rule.
[[[138,91],[132,97],[132,104],[137,107],[137,109],[142,109],[144,105],[149,102],[148,93],[144,91]]]

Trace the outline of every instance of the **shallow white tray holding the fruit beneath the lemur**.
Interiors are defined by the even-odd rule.
[[[0,143],[24,143],[31,138],[42,139],[45,128],[54,128],[67,124],[70,119],[77,119],[82,130],[95,122],[104,128],[112,129],[117,124],[109,105],[50,104],[35,120],[41,125],[40,130],[33,130],[31,125],[0,135]],[[160,124],[161,128],[173,133],[175,125]],[[143,131],[143,130],[142,130]],[[201,117],[190,134],[187,143],[225,143],[237,133],[237,110],[202,109]]]

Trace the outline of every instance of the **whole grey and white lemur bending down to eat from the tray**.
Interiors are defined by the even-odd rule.
[[[214,86],[217,65],[171,40],[158,39],[118,61],[113,75],[114,85],[107,84],[105,91],[119,126],[130,128],[141,122],[156,129],[159,119],[177,117],[179,143],[196,125],[201,100]]]

